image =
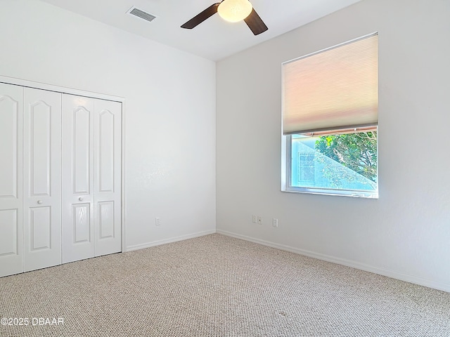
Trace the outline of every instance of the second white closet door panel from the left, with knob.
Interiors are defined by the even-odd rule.
[[[61,94],[24,88],[25,272],[61,263]]]

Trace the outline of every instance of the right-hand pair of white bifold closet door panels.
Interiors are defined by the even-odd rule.
[[[63,94],[63,263],[122,251],[121,103]]]

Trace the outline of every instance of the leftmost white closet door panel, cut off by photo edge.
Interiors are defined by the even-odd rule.
[[[23,272],[23,88],[0,83],[0,277]]]

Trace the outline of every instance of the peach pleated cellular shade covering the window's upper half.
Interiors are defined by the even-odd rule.
[[[378,124],[378,34],[283,63],[283,134]]]

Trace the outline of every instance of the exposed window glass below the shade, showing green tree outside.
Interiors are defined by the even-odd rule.
[[[376,131],[290,136],[290,187],[299,192],[333,194],[335,190],[342,190],[375,197],[378,191],[377,137]]]

